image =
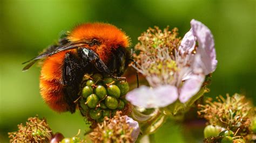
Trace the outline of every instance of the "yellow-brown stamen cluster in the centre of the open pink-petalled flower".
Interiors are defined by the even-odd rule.
[[[180,45],[178,29],[169,31],[167,26],[163,31],[159,27],[149,28],[138,38],[140,41],[135,49],[139,54],[133,54],[138,66],[135,67],[147,77],[150,85],[168,84],[174,82],[174,74],[179,70],[176,54]]]

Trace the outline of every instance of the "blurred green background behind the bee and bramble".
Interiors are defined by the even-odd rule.
[[[180,36],[190,29],[190,20],[207,25],[215,39],[218,67],[208,96],[235,92],[256,103],[255,1],[0,1],[0,142],[7,132],[28,117],[46,117],[53,132],[72,137],[87,125],[76,112],[56,113],[39,95],[40,68],[22,73],[22,62],[36,56],[58,38],[62,30],[79,23],[106,22],[130,35],[133,46],[149,26],[178,27]],[[168,123],[156,134],[157,142],[201,142],[197,125]]]

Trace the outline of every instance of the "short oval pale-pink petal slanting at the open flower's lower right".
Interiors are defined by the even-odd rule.
[[[192,96],[200,90],[205,79],[204,75],[193,75],[186,80],[180,89],[179,100],[181,103],[187,102]]]

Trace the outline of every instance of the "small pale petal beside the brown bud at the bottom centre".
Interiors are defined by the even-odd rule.
[[[125,116],[125,120],[132,127],[131,137],[132,141],[135,142],[139,136],[139,123],[128,116]]]

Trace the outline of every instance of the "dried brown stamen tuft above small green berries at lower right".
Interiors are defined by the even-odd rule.
[[[250,130],[252,117],[255,116],[251,102],[247,101],[245,96],[235,94],[230,97],[227,94],[217,97],[218,102],[212,102],[212,99],[206,101],[206,105],[198,105],[198,115],[208,120],[211,125],[218,125],[237,131],[240,134],[247,134]]]

